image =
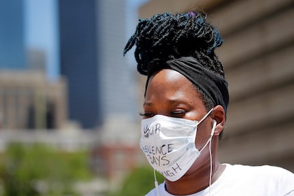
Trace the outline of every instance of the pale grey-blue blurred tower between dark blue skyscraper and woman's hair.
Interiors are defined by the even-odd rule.
[[[135,62],[128,66],[123,57],[126,44],[126,0],[103,0],[98,2],[98,62],[101,79],[103,114],[133,117],[137,115],[135,104]]]

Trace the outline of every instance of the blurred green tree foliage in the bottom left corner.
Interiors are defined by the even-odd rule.
[[[11,143],[0,163],[4,196],[77,195],[73,183],[92,178],[87,160],[87,152]]]

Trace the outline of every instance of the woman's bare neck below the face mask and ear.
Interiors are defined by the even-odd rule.
[[[216,145],[213,145],[213,146],[216,146]],[[221,176],[222,172],[225,169],[225,166],[219,163],[219,161],[216,159],[215,148],[212,149],[212,152],[213,152],[213,170],[212,170],[211,184],[213,184],[213,182],[215,182],[219,178],[219,176]],[[202,157],[199,157],[195,163],[197,164],[199,160],[202,162],[202,164],[198,165],[197,169],[194,169],[191,172],[188,171],[185,174],[185,176],[183,176],[181,179],[175,182],[170,182],[168,180],[165,180],[166,190],[173,195],[190,195],[190,194],[202,191],[204,188],[209,187],[211,165],[210,165],[210,157],[208,154],[209,154],[209,151],[208,151],[208,148],[206,148],[206,150],[204,150],[201,154]],[[204,159],[204,157],[206,157],[206,159]]]

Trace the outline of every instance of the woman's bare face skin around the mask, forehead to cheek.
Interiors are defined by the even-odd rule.
[[[179,72],[169,69],[163,69],[150,77],[143,107],[144,118],[166,115],[199,122],[207,113],[204,102],[192,83]],[[209,139],[212,121],[211,117],[206,117],[198,125],[198,150]]]

